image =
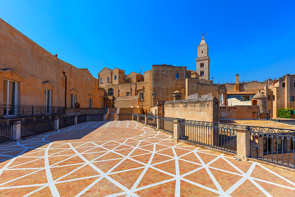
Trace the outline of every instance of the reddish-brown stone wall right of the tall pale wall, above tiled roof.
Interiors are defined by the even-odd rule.
[[[253,112],[257,113],[258,110],[258,105],[219,106],[219,120],[253,120]]]

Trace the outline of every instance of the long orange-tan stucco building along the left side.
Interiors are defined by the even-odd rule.
[[[88,69],[60,60],[2,19],[0,92],[3,105],[104,106],[104,89]]]

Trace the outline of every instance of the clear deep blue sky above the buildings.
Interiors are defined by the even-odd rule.
[[[1,1],[0,17],[93,76],[196,69],[201,34],[214,83],[295,73],[295,1]]]

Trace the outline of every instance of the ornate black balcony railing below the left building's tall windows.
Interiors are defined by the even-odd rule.
[[[41,105],[0,105],[0,118],[24,118],[64,115],[65,107]]]

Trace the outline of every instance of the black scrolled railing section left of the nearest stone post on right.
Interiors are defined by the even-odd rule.
[[[236,127],[231,124],[180,120],[182,140],[233,153],[237,152]]]

